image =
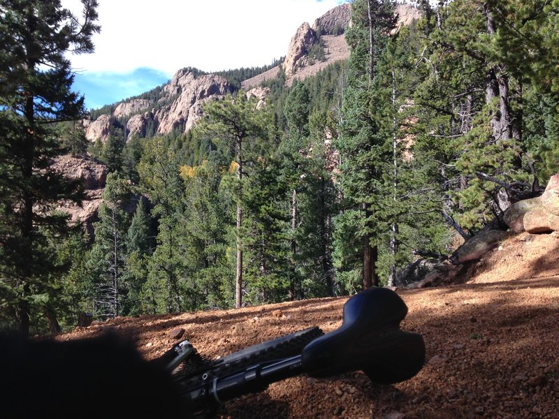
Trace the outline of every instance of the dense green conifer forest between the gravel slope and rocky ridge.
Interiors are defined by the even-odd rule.
[[[398,286],[559,171],[559,0],[423,0],[398,30],[395,1],[354,0],[348,61],[290,86],[280,71],[265,105],[240,82],[271,66],[224,72],[234,91],[187,133],[125,142],[121,121],[104,144],[64,58],[92,50],[96,2],[44,36],[29,10],[48,32],[59,6],[28,3],[0,3],[2,328]],[[108,166],[94,235],[52,212],[80,200],[48,167],[64,153]]]

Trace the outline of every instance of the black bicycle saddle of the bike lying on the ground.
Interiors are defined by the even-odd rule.
[[[400,330],[407,306],[389,288],[371,288],[344,304],[343,323],[303,348],[307,374],[326,377],[361,370],[379,384],[399,383],[425,363],[421,335]]]

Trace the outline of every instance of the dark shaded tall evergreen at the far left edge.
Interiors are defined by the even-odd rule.
[[[40,226],[64,233],[66,217],[50,210],[78,191],[50,169],[50,159],[61,153],[52,125],[85,111],[71,91],[66,57],[94,49],[97,1],[82,3],[79,20],[59,0],[0,1],[1,299],[13,314],[10,326],[23,334],[55,260]]]

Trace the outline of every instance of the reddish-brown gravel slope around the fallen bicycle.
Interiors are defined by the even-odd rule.
[[[396,385],[361,372],[305,376],[228,402],[219,418],[559,418],[559,235],[521,233],[479,260],[457,284],[398,290],[404,330],[426,342],[426,365]],[[116,318],[60,335],[76,339],[115,329],[146,359],[176,343],[175,328],[215,357],[317,325],[342,323],[347,297],[140,318]],[[155,402],[155,401],[154,401]]]

